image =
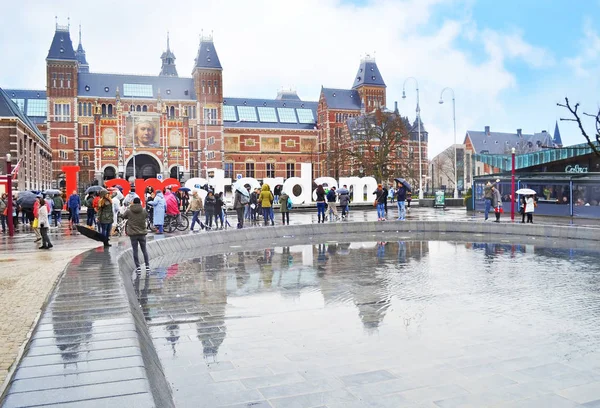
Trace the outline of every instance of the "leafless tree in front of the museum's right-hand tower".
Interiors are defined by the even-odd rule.
[[[402,166],[400,152],[408,139],[402,117],[377,109],[349,123],[345,157],[376,180],[388,181]]]

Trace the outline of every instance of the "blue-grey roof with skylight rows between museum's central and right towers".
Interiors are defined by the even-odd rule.
[[[314,130],[317,125],[317,106],[318,102],[302,101],[298,99],[254,99],[254,98],[223,98],[223,109],[226,107],[235,107],[236,120],[231,120],[223,115],[223,126],[225,128],[245,128],[245,129],[296,129],[296,130]],[[256,120],[240,120],[238,107],[251,107],[255,109]],[[256,108],[275,108],[275,116],[271,121],[261,121],[261,115]],[[294,112],[297,123],[286,123],[282,121],[277,108],[291,109],[310,109],[313,120],[310,123],[301,123],[297,112]]]

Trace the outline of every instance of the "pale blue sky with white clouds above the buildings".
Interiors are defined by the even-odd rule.
[[[350,88],[374,56],[387,104],[415,118],[417,79],[429,158],[467,130],[524,133],[559,127],[584,139],[557,102],[600,107],[600,0],[23,0],[3,6],[0,87],[44,89],[58,23],[78,26],[92,72],[157,75],[167,32],[180,76],[191,76],[201,34],[213,35],[224,96],[275,98],[293,88],[318,100],[321,86]],[[403,86],[406,99],[402,99]],[[588,122],[592,130],[591,120]]]

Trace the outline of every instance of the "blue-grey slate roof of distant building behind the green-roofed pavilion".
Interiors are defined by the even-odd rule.
[[[552,146],[552,136],[548,132],[534,134],[489,132],[468,130],[475,153],[507,154],[514,147],[518,154],[534,152]]]

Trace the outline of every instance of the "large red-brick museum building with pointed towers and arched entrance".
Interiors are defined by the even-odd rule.
[[[322,88],[319,101],[304,101],[294,91],[274,99],[223,96],[212,37],[201,39],[191,77],[178,75],[168,38],[160,58],[156,76],[90,72],[81,32],[74,48],[69,27],[57,25],[46,89],[5,89],[48,140],[58,185],[65,165],[81,167],[81,188],[134,175],[186,180],[210,169],[233,179],[289,178],[299,176],[300,163],[313,165],[313,178],[362,175],[362,167],[361,174],[348,166],[332,171],[330,154],[349,119],[386,106],[374,59],[360,61],[350,89]],[[411,157],[422,149],[426,174],[427,132],[421,128],[419,146],[416,126],[409,130],[402,149]]]

